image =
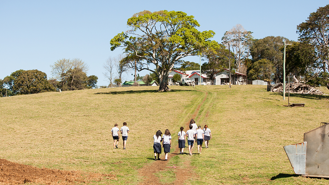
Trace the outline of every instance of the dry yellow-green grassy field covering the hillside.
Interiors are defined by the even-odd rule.
[[[282,100],[282,94],[260,85],[171,88],[166,93],[156,92],[157,87],[126,87],[0,98],[0,157],[36,167],[117,175],[117,181],[95,184],[138,184],[138,169],[154,162],[155,132],[169,129],[177,145],[179,127],[202,104],[195,120],[212,130],[209,148],[168,161],[168,166],[188,162],[194,167],[198,176],[186,184],[329,184],[295,175],[283,149],[303,142],[303,133],[320,122],[329,122],[329,95],[291,94],[290,102],[305,107],[286,107],[288,97]],[[114,150],[111,128],[123,122],[130,128],[127,150],[121,140],[120,149]],[[175,169],[156,176],[161,183],[172,183]]]

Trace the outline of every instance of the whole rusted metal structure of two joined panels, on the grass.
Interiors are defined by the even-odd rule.
[[[329,123],[304,133],[304,142],[283,147],[293,171],[329,178]]]

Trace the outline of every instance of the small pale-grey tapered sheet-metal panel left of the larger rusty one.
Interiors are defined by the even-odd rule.
[[[304,142],[283,147],[296,174],[305,174],[306,144]]]

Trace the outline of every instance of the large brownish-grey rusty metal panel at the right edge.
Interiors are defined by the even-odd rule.
[[[305,174],[307,176],[329,175],[329,124],[304,133],[307,142]]]

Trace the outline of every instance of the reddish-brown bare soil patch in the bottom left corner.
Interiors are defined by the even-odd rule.
[[[37,168],[0,159],[0,184],[25,184],[30,182],[49,185],[73,185],[101,181],[103,177],[116,180],[114,174]]]

